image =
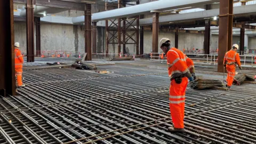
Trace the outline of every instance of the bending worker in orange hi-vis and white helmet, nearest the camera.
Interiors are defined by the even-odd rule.
[[[159,43],[163,52],[167,55],[168,73],[170,84],[170,111],[174,127],[168,127],[170,132],[185,132],[184,110],[185,91],[189,81],[194,81],[188,67],[185,54],[175,47],[171,48],[170,39],[162,38]]]

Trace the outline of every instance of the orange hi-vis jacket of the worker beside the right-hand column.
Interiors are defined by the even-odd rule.
[[[237,52],[233,51],[233,50],[228,51],[225,54],[223,64],[224,65],[227,64],[227,65],[235,65],[236,66],[236,63],[239,67],[241,66],[239,54]]]

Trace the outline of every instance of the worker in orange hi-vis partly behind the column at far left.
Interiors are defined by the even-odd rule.
[[[25,84],[22,84],[22,64],[23,57],[19,50],[20,44],[17,42],[14,44],[14,58],[15,58],[15,75],[17,75],[17,86],[23,87]]]

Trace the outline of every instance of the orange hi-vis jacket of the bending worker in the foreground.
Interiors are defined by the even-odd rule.
[[[188,72],[186,56],[183,52],[172,47],[166,54],[167,64],[168,64],[168,73],[171,79],[175,77],[185,77],[185,74]],[[190,74],[190,73],[189,73]]]

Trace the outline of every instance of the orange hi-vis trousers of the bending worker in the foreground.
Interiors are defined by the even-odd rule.
[[[172,122],[175,128],[184,128],[185,93],[188,85],[188,78],[183,77],[180,84],[173,79],[170,85],[170,111]]]

